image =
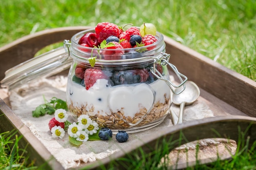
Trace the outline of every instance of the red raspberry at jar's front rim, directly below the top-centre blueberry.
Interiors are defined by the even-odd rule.
[[[116,59],[121,58],[121,55],[124,54],[124,50],[122,50],[124,48],[118,42],[113,41],[111,43],[115,44],[115,46],[110,46],[105,49],[114,49],[114,50],[104,50],[103,51],[104,59],[116,60]],[[117,49],[120,49],[120,50],[117,50]]]

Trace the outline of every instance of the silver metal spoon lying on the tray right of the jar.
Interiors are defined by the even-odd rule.
[[[179,113],[178,120],[177,120],[177,116],[173,114],[172,113],[173,111],[171,110],[171,115],[173,117],[174,125],[182,123],[184,107],[195,102],[200,95],[200,90],[194,82],[187,81],[185,83],[185,86],[186,88],[182,93],[180,93],[179,95],[173,95],[173,104],[180,105],[180,113]],[[175,91],[179,91],[179,90],[180,90],[179,88],[175,89]]]

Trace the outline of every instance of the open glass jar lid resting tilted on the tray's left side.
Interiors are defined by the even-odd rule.
[[[1,87],[9,90],[34,81],[39,77],[49,77],[70,68],[72,58],[66,53],[64,47],[59,47],[31,58],[10,68],[1,80]]]

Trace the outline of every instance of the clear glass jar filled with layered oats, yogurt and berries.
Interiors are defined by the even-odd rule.
[[[93,31],[79,32],[71,43],[64,42],[73,59],[66,92],[70,112],[76,117],[88,115],[114,133],[138,132],[160,124],[170,110],[174,88],[183,86],[181,93],[187,80],[168,63],[163,35],[157,32],[157,42],[131,49],[93,49],[78,44],[85,33]],[[170,81],[167,66],[179,77],[179,85]]]

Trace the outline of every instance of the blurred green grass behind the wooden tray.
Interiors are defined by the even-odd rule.
[[[151,22],[159,32],[256,81],[255,0],[0,2],[0,46],[61,26]]]

